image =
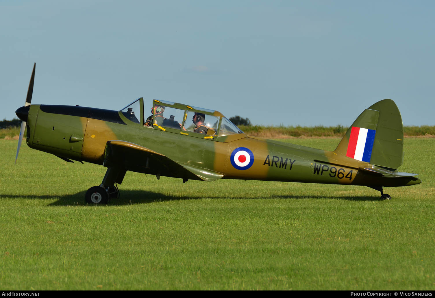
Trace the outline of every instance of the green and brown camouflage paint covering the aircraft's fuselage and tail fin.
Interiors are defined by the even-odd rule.
[[[154,100],[153,104],[155,102],[158,101]],[[141,107],[144,106],[142,98],[140,104]],[[395,108],[391,107],[392,105]],[[223,116],[217,111],[204,112],[183,104],[173,104],[171,107],[183,109],[185,113],[191,110],[218,117]],[[385,112],[385,110],[390,112]],[[371,159],[378,163],[376,166],[386,169],[394,169],[402,163],[402,122],[401,118],[398,121],[400,114],[397,114],[398,110],[396,110],[397,107],[392,100],[383,100],[363,111],[352,124],[356,127],[377,130],[377,139],[375,139]],[[92,113],[93,109],[90,110],[90,114]],[[387,174],[387,177],[383,177],[379,173],[370,174],[367,170],[361,171],[361,168],[365,167],[376,170],[376,166],[373,162],[358,161],[346,156],[350,129],[335,151],[323,151],[250,137],[246,134],[221,137],[218,132],[216,136],[204,136],[191,131],[157,125],[145,127],[143,109],[140,114],[140,123],[128,120],[121,111],[117,112],[117,117],[119,121],[104,121],[91,117],[53,114],[43,112],[39,105],[31,105],[28,115],[30,132],[27,144],[29,147],[61,157],[103,164],[107,141],[126,141],[145,148],[132,154],[134,161],[137,161],[137,166],[134,166],[135,171],[156,175],[163,172],[172,177],[179,177],[183,172],[177,171],[171,174],[167,168],[164,169],[166,165],[156,165],[154,168],[143,166],[144,158],[147,158],[147,149],[157,152],[162,158],[184,164],[186,169],[194,173],[199,173],[196,169],[204,169],[204,177],[211,177],[211,180],[221,177],[219,176],[221,173],[224,175],[223,178],[227,179],[367,186],[404,186],[421,182],[414,177],[397,177],[394,174],[390,176]],[[185,121],[188,119],[184,119],[183,125]],[[381,124],[378,123],[379,121]],[[117,144],[122,144],[122,142]],[[393,149],[389,151],[388,146]],[[241,170],[233,166],[231,153],[237,148],[247,148],[252,152],[254,161],[251,167]],[[120,161],[124,160],[122,156],[117,158]],[[205,170],[209,170],[209,174],[206,174]],[[190,175],[189,179],[201,179],[200,176],[195,175]]]

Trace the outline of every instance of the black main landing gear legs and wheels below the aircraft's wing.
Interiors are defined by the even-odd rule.
[[[126,171],[118,167],[108,167],[103,182],[99,186],[89,188],[84,200],[89,204],[107,204],[112,198],[119,198],[119,189],[115,183],[121,184]]]

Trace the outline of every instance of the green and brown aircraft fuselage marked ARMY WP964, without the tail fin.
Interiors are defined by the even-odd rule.
[[[26,143],[29,147],[94,164],[103,164],[107,141],[122,140],[164,154],[173,161],[219,172],[228,179],[367,186],[420,183],[407,178],[385,179],[368,175],[359,169],[369,166],[369,163],[337,157],[332,151],[247,134],[202,138],[195,133],[144,126],[129,120],[121,111],[31,105],[27,125]],[[248,152],[249,156],[240,157],[238,151]],[[247,163],[246,157],[252,162]],[[159,174],[155,168],[141,167],[135,171]]]

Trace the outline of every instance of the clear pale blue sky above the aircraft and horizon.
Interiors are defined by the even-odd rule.
[[[404,125],[435,125],[434,15],[434,1],[0,0],[0,119],[36,62],[32,104],[144,97],[349,126],[391,98]]]

